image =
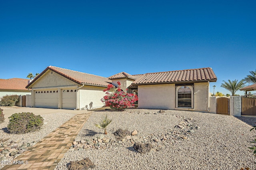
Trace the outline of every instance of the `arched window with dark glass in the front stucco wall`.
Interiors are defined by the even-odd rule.
[[[178,107],[192,107],[191,92],[188,86],[182,86],[178,89]]]

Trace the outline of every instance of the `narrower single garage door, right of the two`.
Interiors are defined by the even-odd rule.
[[[76,109],[76,89],[62,89],[62,109]]]

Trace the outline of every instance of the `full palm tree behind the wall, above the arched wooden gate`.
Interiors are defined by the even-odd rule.
[[[224,80],[223,80],[224,81]],[[245,85],[245,82],[244,82],[244,80],[241,80],[241,81],[239,81],[238,83],[237,83],[237,81],[238,80],[232,80],[232,81],[230,81],[230,80],[228,80],[228,82],[226,82],[226,81],[224,81],[224,83],[222,83],[221,85],[220,85],[220,87],[223,87],[223,88],[225,88],[225,89],[227,89],[228,91],[230,91],[231,93],[232,93],[232,96],[234,96],[235,95],[235,93],[239,90],[239,89],[241,89],[241,88],[243,88],[244,87],[244,85]]]

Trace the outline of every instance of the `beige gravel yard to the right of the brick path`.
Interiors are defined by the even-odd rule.
[[[103,130],[94,126],[104,114],[114,118],[108,126],[106,138],[114,138],[117,129],[138,130],[136,135],[151,143],[153,150],[141,154],[133,149],[130,140],[116,142],[110,148],[70,149],[56,166],[56,170],[67,169],[70,161],[90,158],[95,170],[240,170],[256,169],[255,156],[250,141],[256,134],[249,125],[236,117],[210,113],[173,111],[158,113],[159,110],[129,109],[123,112],[98,111],[92,113],[80,130],[76,141],[97,138]],[[185,129],[177,127],[189,120]],[[197,128],[195,128],[197,127]],[[194,132],[187,132],[193,129]],[[173,141],[163,140],[169,134],[184,134],[187,138],[174,136]],[[154,136],[159,140],[152,140]],[[141,141],[142,141],[141,140]],[[162,147],[160,147],[162,146]]]

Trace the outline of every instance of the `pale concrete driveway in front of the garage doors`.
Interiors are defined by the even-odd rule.
[[[5,119],[8,119],[14,113],[22,113],[22,112],[32,112],[35,115],[47,115],[51,113],[88,113],[87,110],[68,110],[68,109],[45,109],[45,108],[34,108],[34,107],[0,107],[3,109]]]

